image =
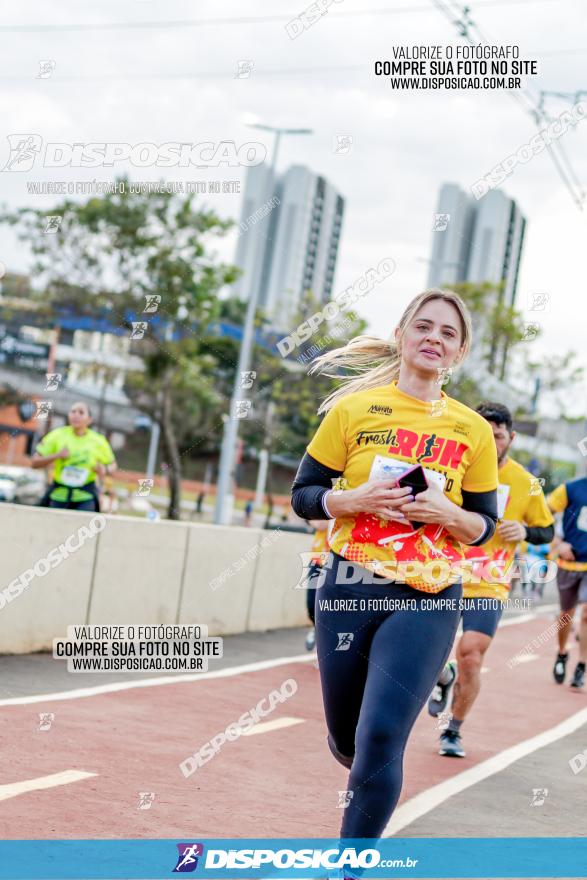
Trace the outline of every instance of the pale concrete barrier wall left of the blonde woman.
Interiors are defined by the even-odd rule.
[[[228,635],[306,622],[294,587],[310,535],[127,516],[101,517],[93,535],[94,518],[0,504],[0,653],[51,650],[68,626],[87,623],[201,623]],[[82,527],[85,541],[61,559]],[[17,595],[14,581],[30,569]]]

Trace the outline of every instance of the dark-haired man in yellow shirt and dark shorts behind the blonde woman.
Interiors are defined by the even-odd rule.
[[[540,482],[508,455],[516,436],[510,411],[500,403],[482,403],[477,412],[491,425],[495,440],[499,519],[491,540],[467,549],[471,570],[465,574],[463,586],[463,635],[457,644],[457,663],[447,663],[428,701],[429,713],[441,715],[454,685],[452,717],[440,736],[438,750],[451,758],[465,757],[461,725],[479,695],[483,658],[508,598],[516,547],[521,541],[546,544],[554,535],[554,519]]]

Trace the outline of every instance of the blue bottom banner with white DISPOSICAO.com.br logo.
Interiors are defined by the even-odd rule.
[[[0,841],[2,880],[587,877],[587,838]]]

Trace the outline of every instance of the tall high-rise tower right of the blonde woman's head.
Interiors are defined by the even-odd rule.
[[[513,306],[526,220],[513,199],[491,190],[476,201],[454,183],[442,185],[432,233],[429,287],[449,287],[463,281],[500,284],[498,303]],[[495,301],[487,304],[489,308]],[[483,322],[474,327],[471,358],[485,362],[491,373],[505,376],[507,345],[483,344]]]

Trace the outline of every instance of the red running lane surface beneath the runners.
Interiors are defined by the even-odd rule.
[[[557,686],[555,640],[540,659],[509,668],[508,659],[550,625],[540,618],[498,631],[486,655],[490,671],[464,732],[467,757],[436,754],[439,731],[424,708],[405,760],[402,802],[558,724],[584,708],[584,693]],[[576,654],[571,655],[574,661]],[[572,663],[571,663],[572,671]],[[287,678],[297,693],[265,720],[304,724],[226,742],[184,778],[179,763]],[[98,676],[96,676],[98,684]],[[40,712],[54,712],[49,731]],[[4,838],[330,837],[338,833],[338,792],[347,773],[331,757],[312,663],[235,676],[137,688],[95,697],[0,707],[1,784],[63,770],[96,777],[0,801]],[[139,792],[153,792],[148,810]]]

